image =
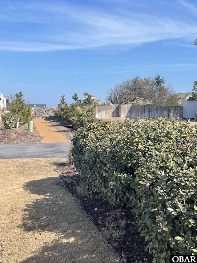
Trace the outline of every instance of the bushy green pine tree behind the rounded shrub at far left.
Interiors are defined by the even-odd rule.
[[[10,108],[10,112],[13,114],[20,114],[23,117],[23,124],[25,124],[33,118],[31,109],[25,104],[25,100],[23,99],[21,91],[19,92],[19,94],[16,93],[15,97],[16,99],[13,106]]]

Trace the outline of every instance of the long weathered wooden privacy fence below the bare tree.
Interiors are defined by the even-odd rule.
[[[86,107],[86,106],[84,106]],[[80,109],[80,107],[78,107]],[[170,117],[183,118],[183,107],[154,106],[154,105],[97,105],[95,108],[96,118],[127,117],[127,118],[156,118]]]

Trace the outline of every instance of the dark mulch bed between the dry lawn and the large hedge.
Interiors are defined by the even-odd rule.
[[[118,253],[127,263],[151,263],[153,257],[145,251],[147,243],[138,232],[135,216],[128,208],[114,208],[103,199],[89,198],[84,194],[80,175],[73,165],[56,167],[64,185],[76,196],[87,214],[103,230]],[[96,209],[95,209],[96,208]]]

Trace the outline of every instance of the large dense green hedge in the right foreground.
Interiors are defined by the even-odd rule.
[[[73,138],[87,194],[128,206],[153,262],[197,252],[197,128],[158,118],[92,123]]]

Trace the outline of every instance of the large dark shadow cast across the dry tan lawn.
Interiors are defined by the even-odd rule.
[[[117,262],[111,257],[115,254],[108,253],[111,247],[66,192],[58,177],[26,182],[23,189],[35,196],[23,210],[22,224],[18,227],[31,232],[32,243],[36,243],[38,249],[21,263]]]

